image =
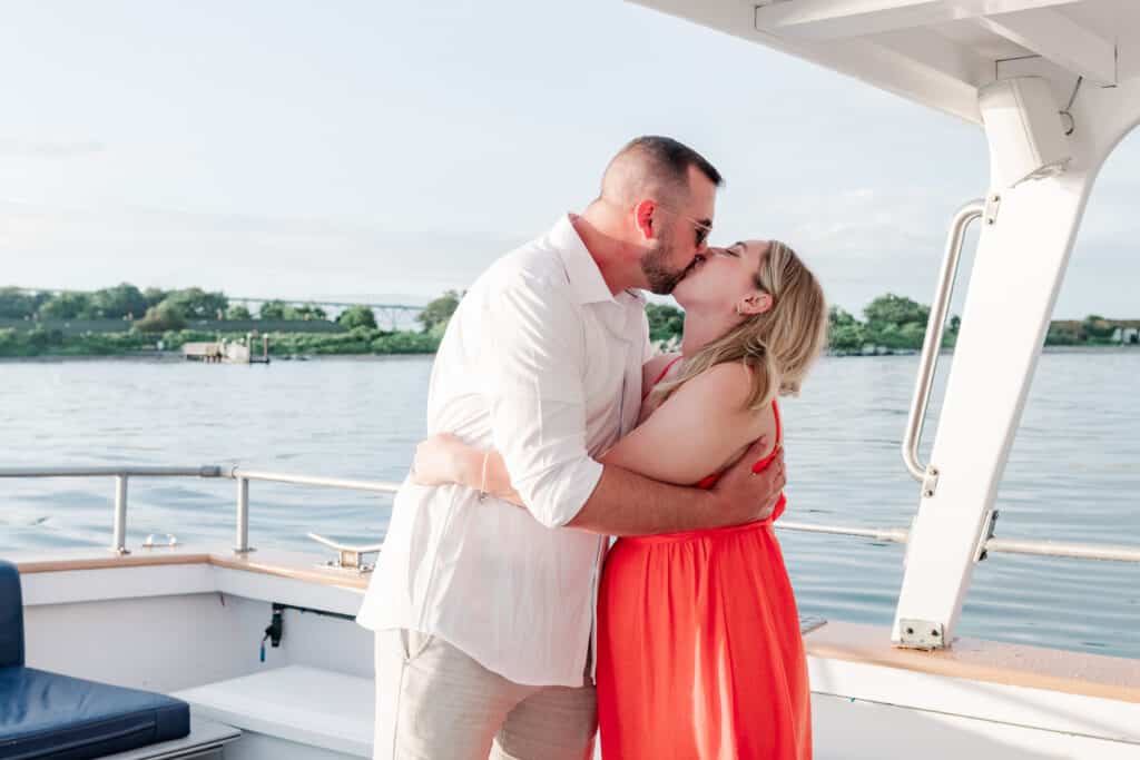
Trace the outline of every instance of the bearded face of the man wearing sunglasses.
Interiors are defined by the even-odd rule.
[[[689,195],[673,205],[659,205],[653,213],[657,236],[642,256],[641,267],[649,289],[673,293],[690,271],[697,256],[708,247],[708,234],[716,209],[716,186],[695,166],[689,167]]]

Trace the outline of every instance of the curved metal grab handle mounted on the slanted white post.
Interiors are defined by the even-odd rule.
[[[977,198],[959,209],[950,222],[950,236],[946,238],[942,270],[938,272],[934,303],[930,305],[930,319],[927,321],[922,356],[919,360],[919,376],[914,383],[914,397],[911,399],[911,411],[906,419],[906,434],[903,436],[903,461],[906,463],[906,471],[919,482],[938,475],[936,468],[919,461],[919,442],[922,439],[927,406],[930,403],[930,391],[934,387],[935,369],[938,366],[942,334],[946,328],[946,314],[950,312],[950,299],[953,295],[954,280],[958,277],[958,264],[962,259],[966,228],[983,213],[985,213],[985,202]],[[923,496],[934,496],[933,485],[923,484]]]

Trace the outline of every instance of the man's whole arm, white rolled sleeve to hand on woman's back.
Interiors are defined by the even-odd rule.
[[[603,468],[589,457],[581,316],[567,288],[515,275],[488,300],[481,329],[495,449],[511,485],[544,525],[638,536],[771,513],[783,488],[782,461],[752,475],[750,463],[759,458],[752,451],[710,491]],[[763,446],[754,449],[763,452]]]

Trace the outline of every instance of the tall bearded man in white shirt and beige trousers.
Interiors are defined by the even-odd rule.
[[[637,138],[580,215],[464,296],[435,358],[429,432],[500,451],[527,509],[461,485],[401,488],[357,619],[376,631],[375,758],[589,757],[606,537],[771,512],[783,468],[754,476],[754,452],[711,491],[592,458],[637,420],[650,344],[632,291],[669,293],[684,277],[719,183],[691,148]]]

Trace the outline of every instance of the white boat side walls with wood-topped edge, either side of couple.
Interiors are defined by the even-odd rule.
[[[368,757],[372,635],[351,620],[367,575],[312,555],[193,546],[13,559],[30,663],[185,696],[195,716],[244,732],[235,757]],[[284,637],[261,662],[275,606]],[[91,640],[100,657],[75,646]],[[1140,662],[969,638],[942,652],[898,649],[888,628],[841,621],[805,641],[816,758],[1140,753]],[[317,686],[298,688],[299,679]],[[256,696],[267,693],[274,700]],[[317,709],[333,694],[348,695],[336,711],[343,730]]]

